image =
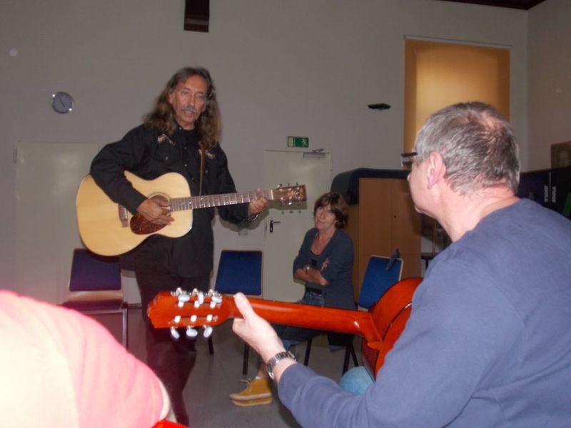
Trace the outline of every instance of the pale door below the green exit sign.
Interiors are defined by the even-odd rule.
[[[331,186],[330,153],[264,152],[264,188],[304,184],[307,200],[300,205],[271,203],[264,225],[263,297],[293,302],[303,296],[303,285],[293,280],[293,259],[308,229],[313,227],[313,204]]]

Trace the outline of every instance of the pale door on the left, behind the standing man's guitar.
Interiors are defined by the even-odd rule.
[[[61,303],[74,248],[81,248],[76,193],[98,151],[94,143],[16,146],[16,290]]]

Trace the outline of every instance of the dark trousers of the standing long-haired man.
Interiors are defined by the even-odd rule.
[[[210,275],[201,277],[173,277],[168,272],[156,269],[152,263],[136,260],[135,274],[141,292],[143,317],[146,321],[147,364],[161,379],[171,397],[171,404],[176,420],[180,424],[189,425],[188,413],[184,404],[183,389],[188,381],[196,350],[194,340],[188,340],[184,331],[181,338],[173,340],[168,329],[155,329],[148,320],[146,308],[149,302],[161,291],[174,291],[177,287],[191,291],[193,288],[207,291]]]

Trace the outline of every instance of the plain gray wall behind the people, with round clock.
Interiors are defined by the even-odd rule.
[[[546,126],[560,128],[550,142],[569,139],[570,125],[567,121],[563,129],[562,116],[556,121],[535,114],[537,103],[557,112],[565,100],[569,106],[570,60],[560,59],[570,51],[567,0],[547,0],[531,11],[433,0],[210,3],[210,31],[203,34],[183,31],[183,0],[1,2],[0,287],[16,287],[16,143],[115,141],[140,123],[166,79],[184,65],[203,65],[213,73],[223,113],[222,145],[242,190],[261,182],[263,149],[285,148],[290,135],[308,136],[311,148],[330,151],[333,176],[358,167],[398,167],[405,36],[512,49],[511,119],[525,168],[548,165],[542,146]],[[545,51],[555,36],[560,45]],[[11,49],[17,49],[16,56]],[[554,81],[567,77],[557,83],[564,96],[542,95],[552,89],[535,83],[545,73]],[[72,113],[51,111],[51,93],[59,90],[74,96]],[[378,102],[392,108],[366,107]],[[219,247],[236,235],[217,225]],[[241,243],[259,248],[262,239],[255,231]]]

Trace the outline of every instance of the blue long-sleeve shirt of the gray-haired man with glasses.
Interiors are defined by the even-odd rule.
[[[303,365],[278,392],[303,427],[571,427],[571,222],[530,200],[432,263],[360,396]]]

